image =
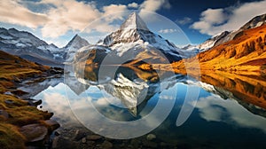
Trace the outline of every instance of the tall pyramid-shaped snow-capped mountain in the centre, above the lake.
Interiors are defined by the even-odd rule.
[[[175,44],[150,31],[144,20],[136,12],[131,13],[128,19],[121,24],[121,27],[107,35],[102,42],[87,48],[87,54],[90,54],[92,50],[96,50],[96,55],[100,55],[98,54],[98,48],[101,51],[106,49],[105,51],[108,54],[106,52],[104,54],[110,58],[108,64],[118,64],[132,59],[148,62],[172,62],[182,59]],[[81,52],[83,54],[76,53],[76,55],[79,55],[79,59],[81,59],[81,55],[88,56],[84,54],[85,50],[82,48]],[[90,60],[99,63],[94,59]]]

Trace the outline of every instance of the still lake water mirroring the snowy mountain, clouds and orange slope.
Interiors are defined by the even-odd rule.
[[[35,89],[34,98],[43,99],[41,109],[53,112],[52,119],[61,128],[82,123],[100,135],[117,138],[134,137],[149,129],[148,134],[156,136],[153,141],[158,145],[163,142],[179,148],[266,146],[265,81],[262,79],[254,82],[245,81],[242,76],[237,80],[215,75],[210,79],[205,75],[200,82],[184,75],[129,67],[119,67],[114,74],[108,73],[113,67],[103,70],[103,75],[94,68],[66,72],[64,81],[51,79],[24,90]],[[157,113],[149,117],[156,109]],[[178,119],[178,116],[183,117]],[[138,126],[115,125],[115,122],[137,122],[147,117],[145,122],[134,123]]]

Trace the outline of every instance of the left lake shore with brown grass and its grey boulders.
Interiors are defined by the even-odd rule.
[[[50,136],[59,123],[51,120],[52,113],[37,109],[42,100],[28,98],[28,92],[18,88],[61,77],[64,70],[5,56],[1,57],[0,148],[51,148]]]

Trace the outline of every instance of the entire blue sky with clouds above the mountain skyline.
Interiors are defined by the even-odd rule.
[[[121,23],[130,10],[139,12],[153,32],[179,44],[178,33],[184,33],[192,43],[202,43],[224,30],[238,29],[266,13],[266,0],[1,0],[0,7],[0,27],[29,31],[59,47],[84,29],[97,31],[98,40],[117,29],[113,22]],[[158,24],[144,12],[158,13],[157,19],[163,21]],[[90,43],[95,42],[96,37],[90,38]]]

